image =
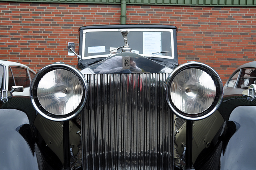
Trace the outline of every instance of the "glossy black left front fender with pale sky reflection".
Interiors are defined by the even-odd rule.
[[[0,102],[0,166],[3,170],[61,169],[52,150],[38,142],[34,120],[38,117],[29,97],[15,96]],[[51,161],[45,154],[52,153]]]

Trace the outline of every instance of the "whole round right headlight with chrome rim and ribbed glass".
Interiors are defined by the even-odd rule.
[[[165,88],[169,107],[187,120],[208,117],[218,109],[223,97],[222,81],[216,71],[198,62],[174,69]]]

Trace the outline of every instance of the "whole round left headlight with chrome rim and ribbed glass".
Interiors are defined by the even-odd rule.
[[[80,71],[64,63],[54,63],[38,71],[30,85],[30,99],[43,117],[66,121],[83,109],[87,89]]]

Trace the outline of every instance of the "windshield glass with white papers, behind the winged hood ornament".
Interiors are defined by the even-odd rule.
[[[84,38],[83,59],[93,55],[109,55],[110,50],[124,45],[119,31],[86,32]],[[171,32],[130,31],[127,39],[133,53],[148,57],[156,53],[162,57],[174,57]]]

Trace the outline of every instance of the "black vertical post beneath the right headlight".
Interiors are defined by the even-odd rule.
[[[186,121],[186,170],[194,170],[192,165],[193,122]]]

